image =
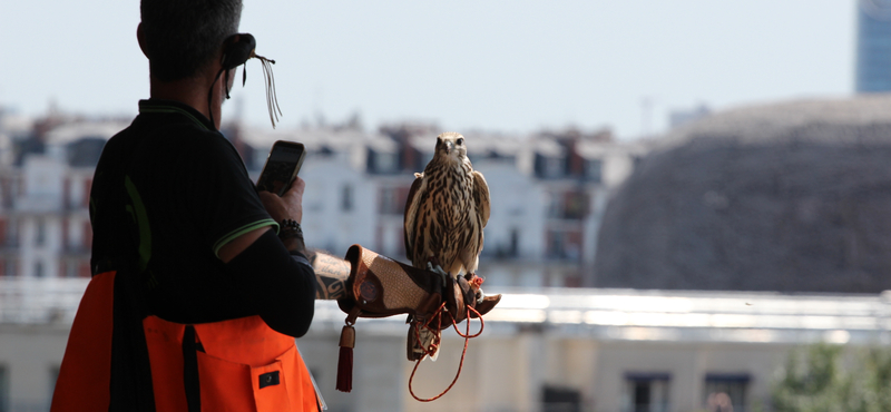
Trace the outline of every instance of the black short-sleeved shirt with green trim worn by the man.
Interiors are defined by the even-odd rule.
[[[257,314],[234,278],[245,274],[233,274],[217,252],[246,232],[277,225],[238,153],[193,108],[139,102],[139,116],[102,150],[90,219],[94,274],[121,267],[144,274],[151,314],[179,323]]]

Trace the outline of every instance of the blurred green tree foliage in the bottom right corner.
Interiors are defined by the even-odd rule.
[[[775,412],[891,411],[891,349],[815,344],[794,350],[772,388]],[[846,367],[845,367],[846,366]]]

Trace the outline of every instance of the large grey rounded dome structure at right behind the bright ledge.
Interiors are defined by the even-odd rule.
[[[718,112],[610,199],[597,287],[891,290],[891,95]]]

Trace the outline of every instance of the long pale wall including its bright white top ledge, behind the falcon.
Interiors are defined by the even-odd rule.
[[[10,380],[11,412],[43,411],[49,405],[66,325],[71,322],[52,314],[74,315],[71,297],[79,297],[75,287],[82,283],[52,281],[0,284],[4,293],[0,320],[18,322],[0,324],[0,366]],[[20,313],[19,307],[31,311]],[[507,294],[487,315],[482,335],[469,342],[454,386],[430,403],[409,393],[414,363],[405,359],[409,325],[402,316],[358,322],[352,393],[335,391],[337,340],[345,314],[333,302],[316,303],[313,325],[297,344],[331,412],[538,412],[546,411],[546,388],[577,395],[585,412],[628,412],[629,374],[667,377],[665,412],[703,410],[707,374],[744,376],[748,406],[744,412],[750,412],[758,402],[766,403],[773,374],[792,347],[823,341],[854,350],[888,342],[888,308],[884,297],[869,295],[606,290]],[[712,321],[694,326],[691,321],[697,318]],[[36,324],[41,322],[56,323]],[[835,328],[838,322],[846,328]],[[466,331],[463,324],[460,327]],[[479,327],[473,322],[471,332]],[[439,359],[422,362],[412,381],[419,398],[449,388],[463,344],[454,331],[443,332]]]

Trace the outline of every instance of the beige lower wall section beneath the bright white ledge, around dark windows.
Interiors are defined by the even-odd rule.
[[[537,412],[542,410],[546,385],[578,391],[582,411],[624,412],[625,376],[629,372],[667,373],[669,412],[704,408],[706,373],[747,374],[746,403],[751,408],[753,402],[767,400],[773,373],[794,346],[600,341],[503,326],[490,325],[493,331],[470,341],[454,388],[429,403],[418,402],[409,393],[414,363],[405,359],[408,325],[401,322],[370,324],[360,320],[351,393],[335,390],[340,325],[314,324],[297,344],[330,412]],[[68,330],[58,325],[0,325],[0,366],[10,380],[10,412],[48,410]],[[462,346],[463,339],[453,331],[443,333],[439,359],[422,362],[412,382],[419,398],[432,398],[449,386]]]

